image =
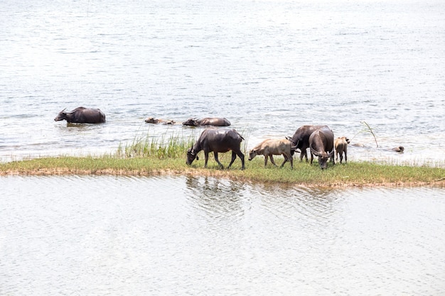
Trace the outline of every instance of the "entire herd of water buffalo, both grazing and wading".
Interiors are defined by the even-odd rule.
[[[85,107],[78,107],[73,111],[65,111],[63,109],[59,112],[58,116],[55,117],[55,121],[66,120],[68,123],[78,123],[78,124],[100,124],[105,122],[105,114],[100,111],[100,109],[87,109]],[[145,119],[146,123],[149,124],[176,124],[176,121],[155,119],[149,117]],[[215,160],[223,168],[223,164],[218,160],[218,153],[225,153],[232,151],[232,160],[228,168],[235,161],[237,155],[242,163],[242,170],[245,169],[245,157],[240,149],[240,143],[244,138],[235,131],[235,129],[220,129],[215,128],[216,126],[230,126],[230,121],[225,118],[204,118],[204,119],[188,119],[182,123],[184,126],[212,126],[206,128],[199,136],[198,140],[193,144],[193,147],[189,148],[187,151],[187,161],[188,165],[193,163],[193,160],[198,160],[198,153],[203,150],[205,157],[204,167],[207,168],[208,154],[213,152]],[[337,160],[340,158],[340,163],[343,162],[343,155],[345,157],[345,162],[348,160],[347,150],[349,139],[346,137],[336,138],[334,140],[334,134],[331,128],[328,126],[301,126],[298,128],[294,136],[286,137],[283,139],[267,139],[259,143],[249,152],[249,160],[252,160],[256,155],[264,155],[264,166],[267,165],[267,160],[273,165],[274,162],[273,155],[283,155],[284,162],[281,167],[284,166],[286,162],[289,161],[291,168],[294,168],[293,155],[299,150],[300,161],[303,158],[308,160],[307,148],[311,150],[311,164],[313,162],[313,156],[318,157],[318,164],[321,169],[326,169],[328,166],[328,160],[335,164],[334,152],[336,151]],[[403,147],[400,146],[402,150]]]

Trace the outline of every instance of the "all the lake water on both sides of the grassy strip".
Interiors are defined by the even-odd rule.
[[[0,24],[1,162],[187,139],[203,129],[144,119],[223,116],[247,149],[327,124],[358,145],[348,160],[445,168],[443,1],[1,1]],[[53,121],[77,106],[107,123]],[[0,295],[445,291],[443,188],[105,176],[0,188]]]

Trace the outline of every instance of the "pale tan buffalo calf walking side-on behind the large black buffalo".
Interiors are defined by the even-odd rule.
[[[262,141],[257,146],[255,146],[249,153],[249,160],[254,159],[257,155],[264,155],[264,166],[267,165],[267,158],[273,165],[277,166],[274,162],[272,155],[283,155],[284,162],[280,166],[283,168],[284,163],[289,160],[291,163],[291,168],[294,168],[294,160],[291,155],[291,141],[288,139],[272,139]]]

